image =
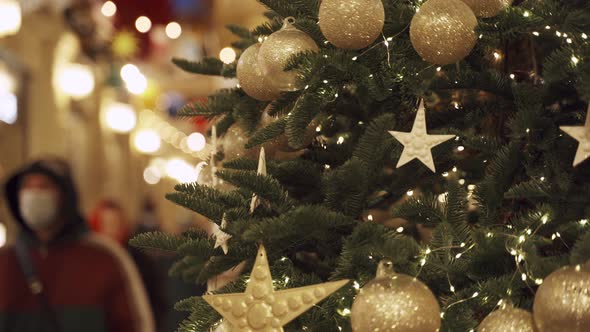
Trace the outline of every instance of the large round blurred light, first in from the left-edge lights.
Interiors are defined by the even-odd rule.
[[[94,91],[94,74],[88,66],[81,64],[64,66],[58,73],[57,82],[65,94],[75,99],[87,97]]]

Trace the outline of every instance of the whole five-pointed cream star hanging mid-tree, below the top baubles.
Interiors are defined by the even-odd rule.
[[[423,100],[420,101],[420,107],[418,108],[411,132],[390,131],[389,133],[404,145],[404,150],[396,166],[397,168],[402,167],[414,159],[418,159],[432,172],[436,172],[434,159],[432,158],[432,148],[455,138],[455,135],[428,135],[426,132],[426,112]]]

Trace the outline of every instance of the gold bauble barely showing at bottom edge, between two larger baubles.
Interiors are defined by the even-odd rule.
[[[486,317],[477,332],[534,332],[533,315],[522,309],[506,307]]]

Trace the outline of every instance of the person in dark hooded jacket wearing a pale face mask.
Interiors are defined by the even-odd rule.
[[[4,190],[20,233],[0,249],[0,331],[154,331],[137,269],[88,232],[64,161],[27,165]]]

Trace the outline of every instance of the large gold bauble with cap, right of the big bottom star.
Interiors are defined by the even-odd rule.
[[[355,332],[436,332],[440,307],[418,279],[393,272],[389,260],[379,263],[377,277],[356,296],[351,309]]]

